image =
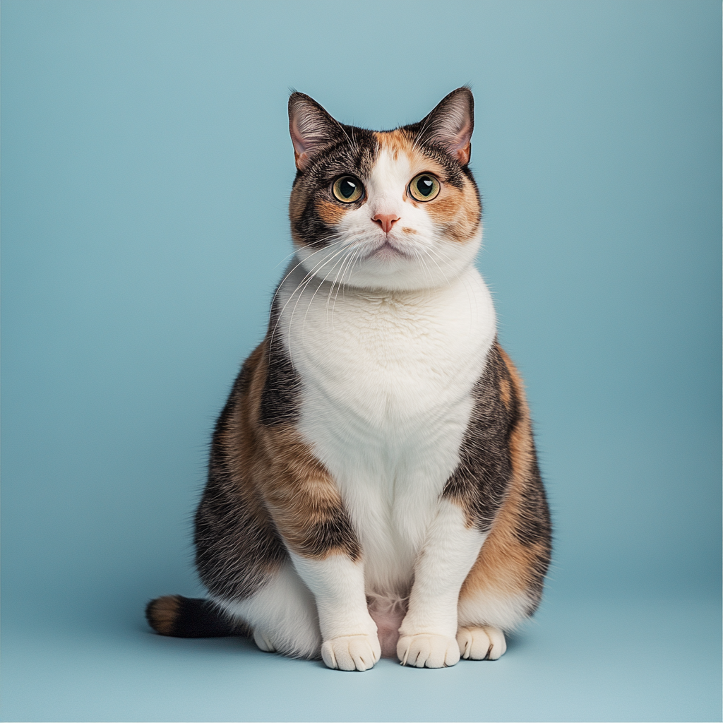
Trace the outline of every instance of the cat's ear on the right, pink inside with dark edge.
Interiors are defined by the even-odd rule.
[[[420,124],[424,140],[444,148],[462,166],[469,163],[474,98],[468,87],[453,90]]]

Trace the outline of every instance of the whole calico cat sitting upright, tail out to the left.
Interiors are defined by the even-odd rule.
[[[208,599],[161,597],[147,618],[343,670],[497,659],[539,604],[550,521],[474,268],[471,91],[385,132],[302,93],[288,109],[296,256],[213,433]]]

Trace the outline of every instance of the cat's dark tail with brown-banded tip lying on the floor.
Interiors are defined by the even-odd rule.
[[[164,595],[151,600],[145,617],[158,635],[172,638],[250,637],[243,623],[229,620],[212,601],[182,595]]]

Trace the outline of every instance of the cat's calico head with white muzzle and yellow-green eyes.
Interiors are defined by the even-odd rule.
[[[307,273],[415,290],[449,283],[473,262],[482,205],[469,170],[469,88],[393,131],[341,124],[303,93],[291,94],[288,116],[297,169],[291,236]]]

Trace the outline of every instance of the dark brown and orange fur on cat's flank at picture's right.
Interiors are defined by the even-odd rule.
[[[533,612],[549,565],[551,526],[521,379],[495,343],[477,387],[460,469],[445,495],[489,530],[461,590],[526,594]],[[471,474],[470,474],[471,473]]]

